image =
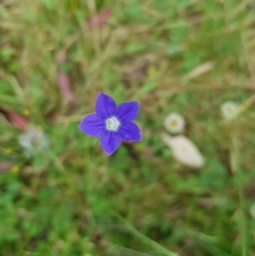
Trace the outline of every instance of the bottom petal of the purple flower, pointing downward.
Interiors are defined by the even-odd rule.
[[[110,156],[121,144],[122,138],[117,133],[104,132],[100,136],[100,145],[105,153]]]

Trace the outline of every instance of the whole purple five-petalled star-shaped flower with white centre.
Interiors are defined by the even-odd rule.
[[[127,101],[116,106],[110,96],[99,92],[95,111],[95,114],[84,117],[78,128],[89,136],[99,136],[100,145],[108,156],[116,151],[122,139],[142,140],[140,129],[133,122],[139,114],[139,101]]]

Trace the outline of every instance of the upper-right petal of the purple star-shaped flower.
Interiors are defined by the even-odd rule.
[[[139,101],[127,101],[118,105],[116,108],[116,116],[122,122],[132,122],[139,114]]]

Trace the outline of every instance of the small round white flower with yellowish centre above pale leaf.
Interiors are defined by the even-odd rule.
[[[171,134],[179,134],[184,130],[184,117],[178,113],[171,113],[165,118],[164,125]]]

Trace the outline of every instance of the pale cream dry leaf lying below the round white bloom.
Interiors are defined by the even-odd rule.
[[[162,134],[161,139],[173,151],[173,157],[178,162],[189,166],[190,168],[201,168],[204,165],[203,156],[196,148],[195,144],[183,135],[171,137]]]

